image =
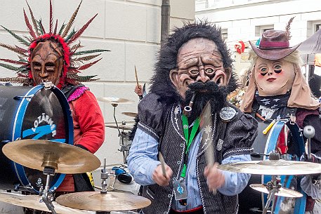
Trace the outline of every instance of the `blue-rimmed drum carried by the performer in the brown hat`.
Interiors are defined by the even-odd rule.
[[[289,138],[289,140],[286,140],[287,142],[289,142],[289,145],[288,145],[289,150],[287,150],[287,154],[282,155],[282,159],[293,160],[293,159],[296,159],[296,157],[301,156],[301,154],[305,152],[302,133],[299,126],[296,123],[290,123],[289,121],[287,122],[277,121],[273,125],[273,127],[270,128],[270,131],[268,132],[268,134],[263,134],[263,130],[266,129],[268,125],[269,123],[263,123],[263,122],[258,123],[258,136],[254,140],[254,143],[252,145],[254,152],[259,154],[268,154],[272,151],[275,151],[280,133],[284,131],[283,129],[284,126],[287,126],[287,128],[289,129],[289,133],[287,135],[287,138]],[[277,150],[280,150],[280,147]],[[268,156],[265,156],[265,155],[262,155],[260,157],[251,156],[252,161],[261,161],[266,159],[268,159]],[[290,178],[291,180],[294,179],[293,176],[290,176]],[[252,189],[251,187],[249,187],[249,185],[266,184],[270,180],[271,180],[270,175],[254,175],[254,174],[251,175],[251,178],[249,180],[247,187],[245,187],[243,192],[239,194],[239,204],[240,204],[239,213],[240,214],[261,213],[260,210],[261,211],[263,210],[267,201],[267,194],[258,192]],[[282,187],[289,188],[289,185],[290,185],[289,178],[282,175],[281,184],[282,184]],[[282,198],[284,197],[278,197],[276,201],[277,207],[275,208],[275,211],[279,210],[281,200],[283,200]],[[287,199],[290,199],[290,198],[287,198]],[[296,202],[294,202],[296,206],[295,209],[298,210],[298,212],[296,213],[299,214],[301,213],[301,211],[299,212],[299,210],[304,209],[303,207],[305,207],[305,200],[306,200],[306,194],[304,193],[303,193],[303,197],[296,199]],[[279,213],[279,211],[276,211],[275,213]]]

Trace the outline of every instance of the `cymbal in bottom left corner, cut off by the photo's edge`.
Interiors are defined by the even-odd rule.
[[[23,195],[23,194],[16,194],[11,192],[0,192],[0,201],[5,203],[11,203],[15,206],[23,206],[27,208],[32,208],[36,210],[43,210],[50,212],[46,206],[46,203],[40,202],[41,196],[38,195]],[[56,213],[87,213],[86,210],[77,210],[74,208],[65,207],[63,205],[60,205],[59,203],[56,203],[55,201],[52,202],[53,206],[55,207]]]

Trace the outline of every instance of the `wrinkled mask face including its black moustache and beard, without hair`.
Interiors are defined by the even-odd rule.
[[[177,69],[172,69],[169,75],[183,105],[188,105],[192,94],[197,93],[191,117],[198,116],[207,101],[211,102],[212,110],[219,111],[226,100],[231,69],[223,66],[214,41],[190,39],[178,50],[176,64]]]

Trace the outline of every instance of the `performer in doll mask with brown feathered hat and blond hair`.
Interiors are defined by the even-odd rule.
[[[292,20],[285,31],[272,29],[264,32],[258,47],[250,42],[251,76],[240,109],[268,121],[292,116],[301,129],[313,126],[315,135],[310,140],[312,159],[307,160],[307,154],[303,154],[301,161],[321,163],[320,103],[311,96],[310,88],[301,74],[302,60],[296,50],[299,45],[289,46],[289,25]],[[261,121],[259,117],[256,118]],[[277,149],[281,154],[291,154],[294,148],[291,142],[280,141]],[[301,187],[308,194],[306,211],[321,212],[320,203],[312,200],[321,199],[320,177],[307,175],[301,180]],[[284,209],[284,212],[293,212],[292,207]]]

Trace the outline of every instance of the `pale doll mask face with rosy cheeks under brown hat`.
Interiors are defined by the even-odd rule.
[[[266,60],[258,57],[254,69],[260,96],[284,95],[294,82],[294,66],[286,60]]]

